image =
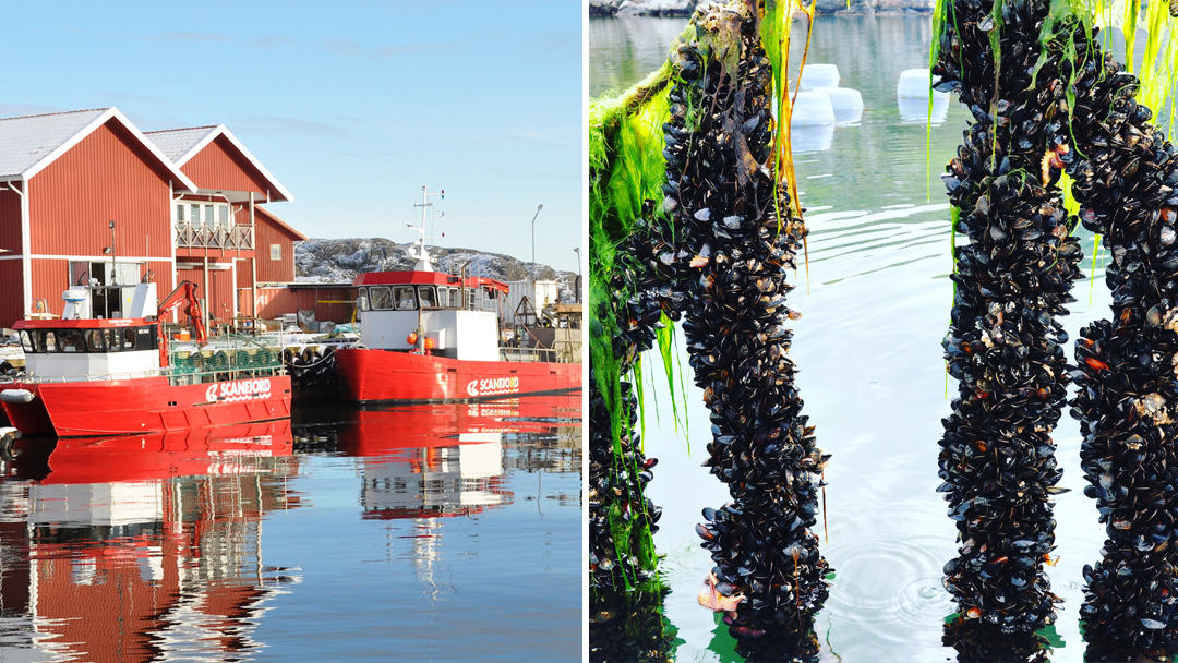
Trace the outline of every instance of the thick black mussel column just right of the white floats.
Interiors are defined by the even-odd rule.
[[[969,238],[955,250],[944,340],[959,384],[944,420],[938,490],[960,542],[945,586],[961,618],[1018,636],[1050,623],[1059,601],[1043,574],[1061,475],[1051,431],[1068,383],[1057,318],[1074,301],[1081,252],[1057,183],[1076,154],[1060,144],[1068,114],[1059,49],[1039,47],[1047,2],[951,4],[933,73],[974,121],[942,175]]]

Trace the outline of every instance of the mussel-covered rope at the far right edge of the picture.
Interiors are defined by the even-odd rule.
[[[1134,100],[1137,78],[1083,32],[1073,39],[1088,49],[1071,67],[1077,157],[1066,171],[1084,226],[1112,256],[1112,319],[1076,343],[1080,466],[1107,536],[1103,559],[1084,569],[1080,615],[1090,657],[1169,661],[1178,635],[1178,158]]]

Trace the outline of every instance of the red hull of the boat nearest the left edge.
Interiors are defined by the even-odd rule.
[[[28,403],[4,402],[12,425],[24,435],[58,437],[134,435],[206,429],[286,419],[291,415],[289,376],[209,384],[167,384],[167,378],[78,383],[12,383]]]

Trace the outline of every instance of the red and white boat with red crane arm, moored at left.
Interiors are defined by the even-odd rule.
[[[206,334],[194,286],[155,303],[155,284],[67,290],[60,319],[19,320],[25,373],[0,383],[0,405],[24,435],[133,435],[290,417],[291,383],[277,358],[247,370],[194,365],[168,352],[163,313],[184,304]],[[113,305],[111,304],[113,303]],[[121,310],[128,317],[93,317]]]

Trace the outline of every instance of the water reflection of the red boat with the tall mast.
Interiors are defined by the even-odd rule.
[[[581,471],[580,396],[357,410],[307,435],[324,432],[357,458],[363,518],[389,522],[388,559],[408,541],[405,555],[432,598],[455,591],[438,578],[445,518],[511,504],[508,472],[536,475],[528,498],[537,508],[544,499],[580,505],[580,495],[545,493],[542,484],[544,473]]]

